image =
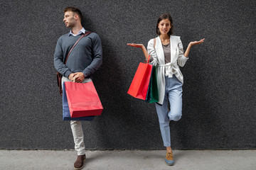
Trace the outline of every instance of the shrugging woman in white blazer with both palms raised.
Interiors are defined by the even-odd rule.
[[[129,43],[131,47],[140,47],[146,60],[156,66],[157,85],[159,88],[159,102],[156,103],[156,112],[159,117],[161,136],[166,147],[165,162],[174,164],[174,156],[171,149],[171,135],[169,121],[181,119],[182,110],[182,85],[183,75],[179,66],[183,67],[188,60],[188,53],[193,45],[201,44],[200,41],[190,42],[183,53],[181,39],[173,34],[174,26],[169,13],[159,17],[156,24],[157,38],[149,40],[147,51],[144,45]],[[170,108],[168,108],[168,100]]]

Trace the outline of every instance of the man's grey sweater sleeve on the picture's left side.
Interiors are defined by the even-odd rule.
[[[68,67],[63,63],[63,49],[61,47],[61,37],[58,39],[57,45],[55,47],[54,52],[54,67],[55,69],[60,72],[60,74],[63,74],[63,76],[68,77],[69,74],[72,72]]]

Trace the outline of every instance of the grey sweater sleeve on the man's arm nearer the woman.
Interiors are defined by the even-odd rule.
[[[95,37],[92,38],[92,62],[82,71],[85,77],[95,73],[95,71],[102,65],[102,43],[99,35],[96,33],[94,34]]]

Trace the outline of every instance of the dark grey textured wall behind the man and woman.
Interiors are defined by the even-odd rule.
[[[70,149],[53,66],[68,33],[63,8],[76,6],[83,26],[102,39],[95,86],[104,111],[82,124],[87,149],[164,149],[154,104],[127,94],[142,51],[169,12],[174,35],[193,47],[181,69],[183,118],[171,123],[176,149],[256,148],[256,1],[1,1],[0,149]]]

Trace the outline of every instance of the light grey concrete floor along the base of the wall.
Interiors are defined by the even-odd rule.
[[[83,169],[256,169],[256,150],[174,150],[174,166],[164,162],[166,151],[87,151]],[[73,169],[73,150],[0,150],[0,169]]]

